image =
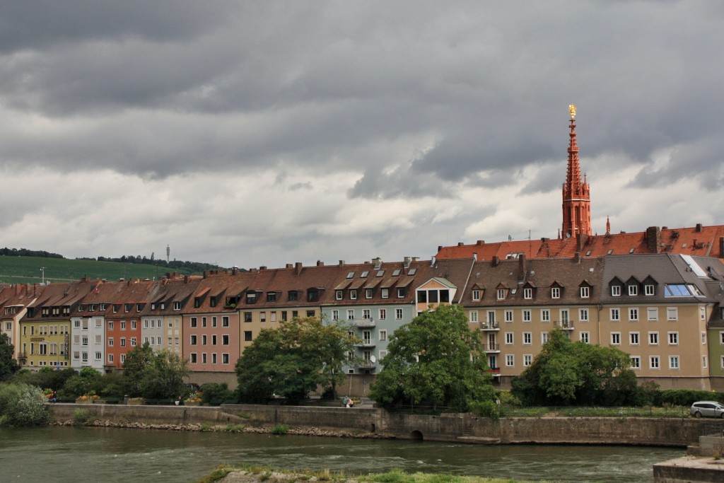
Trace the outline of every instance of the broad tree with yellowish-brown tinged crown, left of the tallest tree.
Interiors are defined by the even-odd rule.
[[[266,403],[274,395],[299,403],[318,386],[334,387],[356,338],[342,324],[306,317],[263,329],[236,364],[239,399]]]

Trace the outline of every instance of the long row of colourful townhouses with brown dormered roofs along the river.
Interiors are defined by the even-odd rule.
[[[508,387],[559,327],[620,348],[662,387],[724,388],[724,264],[678,254],[289,264],[156,282],[83,279],[0,290],[1,329],[21,366],[120,369],[148,342],[188,359],[193,382],[235,386],[235,364],[261,329],[297,316],[344,321],[359,338],[345,369],[361,393],[392,332],[457,303]]]

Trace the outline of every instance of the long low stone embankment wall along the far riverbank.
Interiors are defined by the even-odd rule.
[[[681,446],[697,442],[712,421],[654,418],[502,418],[494,421],[470,413],[418,416],[375,408],[320,408],[225,404],[203,406],[51,406],[54,419],[72,419],[77,408],[98,419],[148,424],[243,424],[245,426],[316,427],[400,439],[471,443],[615,444]]]

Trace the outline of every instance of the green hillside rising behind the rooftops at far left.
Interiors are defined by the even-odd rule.
[[[165,261],[159,265],[133,264],[114,261],[70,260],[37,256],[0,256],[0,283],[38,283],[43,280],[44,267],[46,282],[69,282],[81,277],[91,279],[119,280],[140,278],[159,280],[167,272],[178,274],[201,274],[183,268],[167,268]]]

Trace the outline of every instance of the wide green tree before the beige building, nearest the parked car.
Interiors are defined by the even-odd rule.
[[[553,329],[533,363],[513,379],[513,394],[529,405],[633,403],[630,365],[622,350],[571,343],[563,330]]]

